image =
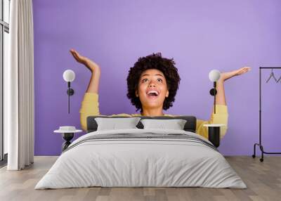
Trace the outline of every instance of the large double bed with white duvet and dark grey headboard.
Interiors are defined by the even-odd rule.
[[[195,134],[195,117],[140,117],[185,119],[182,130],[147,129],[141,122],[134,129],[98,130],[96,117],[87,118],[88,133],[70,144],[35,189],[247,188],[217,148]]]

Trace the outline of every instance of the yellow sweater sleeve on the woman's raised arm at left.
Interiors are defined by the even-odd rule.
[[[81,129],[87,130],[87,117],[100,115],[98,108],[98,93],[85,93],[80,108]]]

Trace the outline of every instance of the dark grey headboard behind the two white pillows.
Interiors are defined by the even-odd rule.
[[[98,124],[95,120],[96,117],[103,117],[103,118],[129,118],[127,116],[106,116],[106,115],[98,115],[98,116],[89,116],[87,117],[87,133],[89,132],[93,132],[96,131],[98,128]],[[148,116],[138,116],[141,117],[141,119],[185,119],[186,123],[184,126],[184,130],[185,131],[190,131],[195,133],[196,131],[196,117],[193,116],[173,116],[173,117],[169,117],[169,116],[158,116],[158,117],[148,117]],[[143,124],[140,122],[138,122],[138,124],[136,125],[136,127],[138,127],[138,129],[143,129]]]

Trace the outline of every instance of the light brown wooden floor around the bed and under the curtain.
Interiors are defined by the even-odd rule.
[[[22,171],[0,169],[0,200],[281,200],[281,157],[226,157],[247,189],[215,188],[68,188],[34,190],[58,157],[34,157]]]

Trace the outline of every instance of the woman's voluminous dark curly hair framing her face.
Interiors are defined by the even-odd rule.
[[[127,97],[131,100],[131,103],[136,106],[136,112],[138,110],[143,112],[141,100],[136,96],[136,90],[138,89],[138,82],[141,74],[148,69],[157,69],[164,74],[169,90],[169,96],[164,100],[163,109],[168,110],[173,106],[176,91],[178,90],[178,85],[181,81],[175,64],[174,58],[162,58],[161,53],[152,53],[149,56],[138,58],[138,61],[133,65],[133,67],[130,67],[127,77]]]

